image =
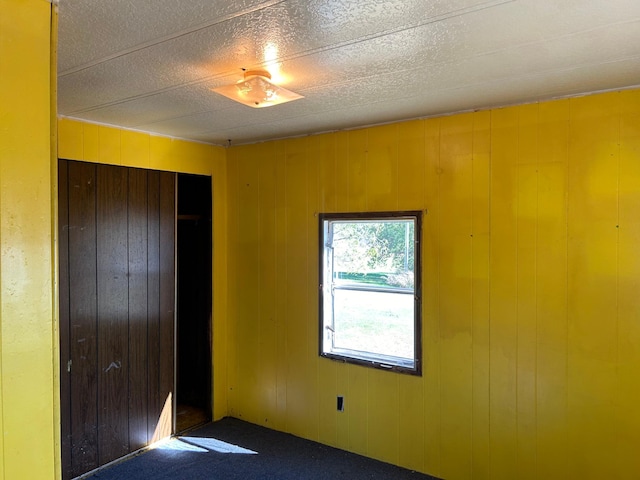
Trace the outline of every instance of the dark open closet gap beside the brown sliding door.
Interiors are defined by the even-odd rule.
[[[178,174],[176,427],[211,421],[211,177]]]

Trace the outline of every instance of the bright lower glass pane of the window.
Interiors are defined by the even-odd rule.
[[[334,348],[413,359],[413,295],[335,290]]]

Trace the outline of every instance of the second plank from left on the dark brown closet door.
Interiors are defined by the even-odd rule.
[[[96,167],[69,163],[71,476],[98,466]]]

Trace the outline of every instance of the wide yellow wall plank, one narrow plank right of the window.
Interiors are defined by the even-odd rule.
[[[439,235],[441,475],[471,475],[473,114],[440,129]]]

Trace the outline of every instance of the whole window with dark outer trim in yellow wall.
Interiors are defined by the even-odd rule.
[[[421,212],[320,215],[320,355],[421,373]]]

